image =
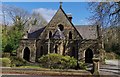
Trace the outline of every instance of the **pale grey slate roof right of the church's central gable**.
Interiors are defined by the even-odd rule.
[[[83,39],[97,39],[97,26],[93,25],[75,25]]]

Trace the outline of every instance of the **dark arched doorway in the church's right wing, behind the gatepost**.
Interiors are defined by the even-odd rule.
[[[93,63],[93,51],[91,49],[87,49],[85,52],[85,63]]]

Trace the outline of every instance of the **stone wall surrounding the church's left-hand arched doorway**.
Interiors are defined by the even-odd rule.
[[[17,49],[17,57],[23,58],[24,49],[28,47],[30,50],[30,61],[35,62],[36,58],[36,40],[34,39],[21,39],[19,48]]]

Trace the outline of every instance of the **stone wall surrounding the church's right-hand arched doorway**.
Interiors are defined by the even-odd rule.
[[[98,41],[97,40],[83,40],[80,45],[79,45],[79,52],[78,52],[78,60],[85,61],[85,52],[87,49],[91,49],[93,52],[93,57],[97,54],[98,52]]]

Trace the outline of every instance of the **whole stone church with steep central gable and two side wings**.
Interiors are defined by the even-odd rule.
[[[72,23],[72,15],[67,15],[60,5],[51,21],[20,41],[17,57],[29,62],[37,62],[42,55],[57,53],[69,55],[77,60],[92,63],[101,49],[98,25],[81,26]]]

